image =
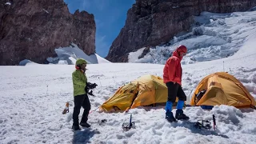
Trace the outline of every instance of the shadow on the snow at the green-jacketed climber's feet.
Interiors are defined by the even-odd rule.
[[[94,134],[100,134],[98,130],[92,130],[90,128],[85,128],[82,130],[74,131],[73,135],[73,144],[84,144],[90,143],[90,138],[94,136]]]

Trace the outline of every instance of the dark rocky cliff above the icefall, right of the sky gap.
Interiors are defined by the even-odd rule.
[[[136,0],[106,59],[127,62],[131,51],[169,42],[175,34],[189,30],[193,16],[202,11],[229,13],[253,6],[256,0]]]

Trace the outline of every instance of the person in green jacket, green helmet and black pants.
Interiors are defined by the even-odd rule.
[[[75,63],[74,72],[72,73],[73,87],[74,87],[74,112],[73,112],[73,130],[81,130],[80,126],[90,127],[87,123],[88,114],[90,111],[90,100],[86,94],[86,60],[78,58]],[[79,126],[78,115],[80,114],[81,107],[84,108],[82,119]]]

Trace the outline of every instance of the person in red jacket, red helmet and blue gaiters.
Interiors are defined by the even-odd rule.
[[[189,117],[183,114],[182,107],[186,101],[186,94],[182,90],[182,66],[181,61],[183,56],[186,55],[186,46],[178,46],[174,50],[173,55],[166,61],[163,69],[163,82],[166,83],[168,88],[168,99],[166,102],[166,119],[169,122],[177,122],[178,120],[188,120]],[[171,112],[173,103],[178,97],[177,110],[174,114]]]

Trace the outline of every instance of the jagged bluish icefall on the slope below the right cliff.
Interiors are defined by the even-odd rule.
[[[227,58],[256,34],[256,11],[232,14],[203,12],[194,19],[196,25],[190,33],[179,34],[180,36],[174,37],[168,45],[151,47],[150,53],[143,58],[138,56],[144,48],[130,53],[129,62],[165,64],[172,51],[179,45],[188,48],[183,64]]]

